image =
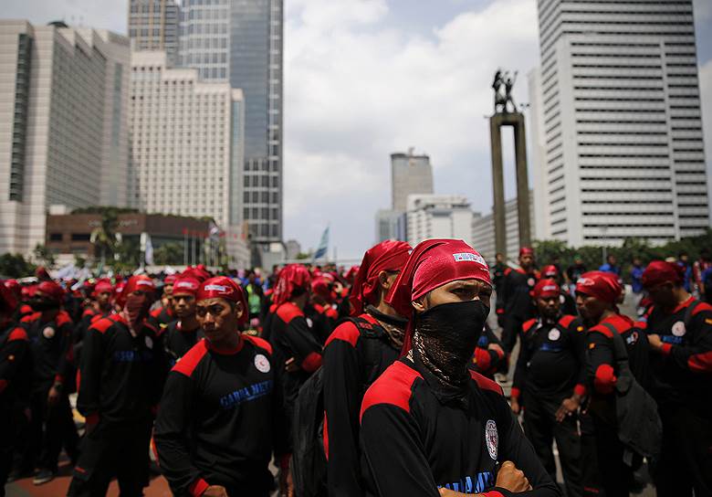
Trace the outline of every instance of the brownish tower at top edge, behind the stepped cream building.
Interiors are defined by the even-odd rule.
[[[178,63],[180,6],[175,0],[130,0],[129,37],[134,51],[164,51],[168,65]]]

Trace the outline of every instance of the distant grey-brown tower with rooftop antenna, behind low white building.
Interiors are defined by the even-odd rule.
[[[427,155],[391,154],[391,198],[394,211],[405,212],[408,196],[433,193],[433,167]]]

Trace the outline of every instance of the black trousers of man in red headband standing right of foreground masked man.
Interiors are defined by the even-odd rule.
[[[556,420],[556,411],[564,397],[543,397],[526,388],[524,400],[524,434],[534,446],[539,460],[556,481],[556,461],[552,443],[556,440],[559,460],[566,494],[568,497],[580,497],[581,486],[581,437],[576,416],[563,421]]]

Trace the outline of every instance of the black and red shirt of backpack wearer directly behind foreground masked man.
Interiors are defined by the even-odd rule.
[[[359,411],[366,389],[400,356],[382,325],[362,313],[344,321],[324,347],[324,451],[333,495],[363,495]]]

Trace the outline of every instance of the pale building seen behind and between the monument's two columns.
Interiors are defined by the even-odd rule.
[[[537,239],[534,225],[534,198],[529,192],[529,216],[531,217],[531,238]],[[505,226],[507,232],[508,259],[516,261],[519,252],[519,220],[517,199],[505,202]],[[495,247],[495,218],[492,213],[487,216],[476,214],[472,219],[472,246],[482,254],[488,263],[495,263],[497,249]]]

